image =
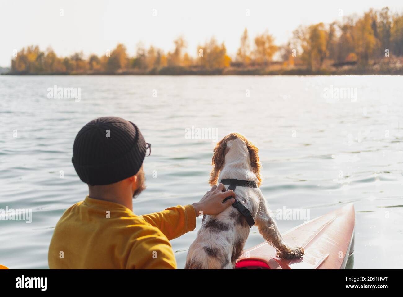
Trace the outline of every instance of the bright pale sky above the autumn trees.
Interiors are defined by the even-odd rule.
[[[234,55],[245,27],[249,37],[268,29],[276,44],[282,44],[301,24],[341,19],[339,9],[343,15],[361,15],[369,8],[384,6],[403,12],[402,0],[1,0],[0,66],[9,67],[13,50],[31,44],[41,50],[52,46],[59,56],[83,51],[87,57],[104,55],[121,42],[133,56],[139,41],[169,51],[174,47],[172,41],[181,35],[192,56],[197,45],[213,35]],[[64,16],[59,15],[60,9]]]

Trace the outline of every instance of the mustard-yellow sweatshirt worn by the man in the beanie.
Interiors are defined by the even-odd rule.
[[[50,241],[50,269],[176,269],[169,240],[196,227],[191,205],[137,216],[89,198],[67,209]]]

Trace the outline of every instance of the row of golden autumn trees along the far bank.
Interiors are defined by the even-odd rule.
[[[232,58],[214,37],[199,45],[194,57],[186,49],[182,37],[168,53],[139,43],[134,56],[123,44],[87,58],[28,46],[12,59],[9,74],[403,74],[403,15],[385,7],[300,26],[283,45],[274,44],[267,30],[251,40],[245,29]]]

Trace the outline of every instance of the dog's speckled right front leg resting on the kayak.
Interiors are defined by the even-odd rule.
[[[255,219],[256,226],[263,238],[276,248],[276,256],[283,259],[297,259],[304,255],[302,247],[291,247],[283,239],[267,206],[266,199],[261,196],[259,210]]]

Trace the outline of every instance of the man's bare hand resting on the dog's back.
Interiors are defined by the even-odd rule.
[[[218,215],[228,206],[235,202],[235,193],[233,190],[228,190],[225,192],[225,187],[222,183],[218,186],[213,185],[210,191],[207,191],[206,195],[196,203],[193,203],[193,207],[196,211],[196,216],[199,215]],[[226,197],[232,196],[233,198],[226,200],[222,203]]]

